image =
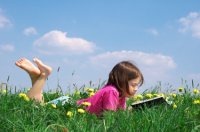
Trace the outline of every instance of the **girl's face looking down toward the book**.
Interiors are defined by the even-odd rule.
[[[131,97],[133,96],[137,90],[138,90],[138,85],[140,83],[140,78],[138,77],[137,79],[132,79],[130,81],[128,81],[128,85],[129,85],[129,91],[130,91],[130,94],[129,95],[128,93],[126,93],[126,97]]]

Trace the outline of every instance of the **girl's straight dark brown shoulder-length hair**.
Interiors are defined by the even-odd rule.
[[[111,70],[106,85],[113,85],[120,93],[120,97],[125,93],[130,94],[128,81],[140,78],[139,86],[144,82],[144,77],[136,65],[130,61],[122,61],[116,64]]]

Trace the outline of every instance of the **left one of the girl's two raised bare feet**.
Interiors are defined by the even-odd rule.
[[[40,70],[26,58],[19,59],[15,62],[15,65],[28,72],[32,81],[36,80],[41,74]]]

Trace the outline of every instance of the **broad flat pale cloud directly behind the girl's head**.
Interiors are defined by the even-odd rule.
[[[176,63],[170,56],[139,51],[106,52],[90,58],[92,65],[101,66],[109,70],[116,63],[123,60],[130,60],[136,63],[148,82],[169,79],[168,72],[176,68]]]

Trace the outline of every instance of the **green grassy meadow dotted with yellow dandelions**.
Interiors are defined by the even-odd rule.
[[[139,100],[163,96],[170,105],[161,104],[138,110],[107,111],[102,117],[87,113],[84,103],[76,100],[93,96],[95,87],[82,87],[71,94],[61,88],[43,94],[46,102],[70,96],[64,105],[39,104],[26,96],[28,89],[14,90],[8,83],[0,84],[0,132],[198,132],[200,131],[199,84],[182,85],[160,92],[162,86],[144,91],[127,100],[127,106]],[[14,91],[14,92],[12,92]]]

